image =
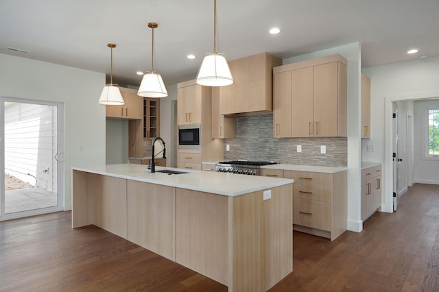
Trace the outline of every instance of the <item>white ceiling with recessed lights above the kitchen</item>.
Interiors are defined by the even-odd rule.
[[[154,69],[165,84],[195,78],[213,51],[213,0],[0,0],[0,53],[108,76],[114,42],[113,83],[138,86],[136,71],[151,70],[149,22],[158,23]],[[280,34],[268,34],[274,26]],[[357,41],[364,68],[439,56],[439,0],[217,0],[217,52],[229,61]]]

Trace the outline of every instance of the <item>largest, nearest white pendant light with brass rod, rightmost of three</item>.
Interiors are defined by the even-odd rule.
[[[213,1],[213,53],[206,53],[196,78],[197,84],[204,86],[226,86],[233,84],[232,73],[228,68],[226,56],[216,51],[217,1]]]

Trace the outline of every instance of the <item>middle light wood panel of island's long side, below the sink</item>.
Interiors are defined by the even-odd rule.
[[[175,260],[174,188],[128,180],[127,239]]]

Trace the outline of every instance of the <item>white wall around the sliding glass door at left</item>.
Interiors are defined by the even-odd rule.
[[[71,167],[105,164],[105,74],[0,54],[0,96],[64,103],[64,210],[71,209]],[[79,151],[80,146],[84,151]]]

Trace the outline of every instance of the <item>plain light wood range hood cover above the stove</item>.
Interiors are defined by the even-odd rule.
[[[228,62],[233,84],[220,89],[220,114],[264,113],[273,110],[273,67],[280,58],[259,53]]]

